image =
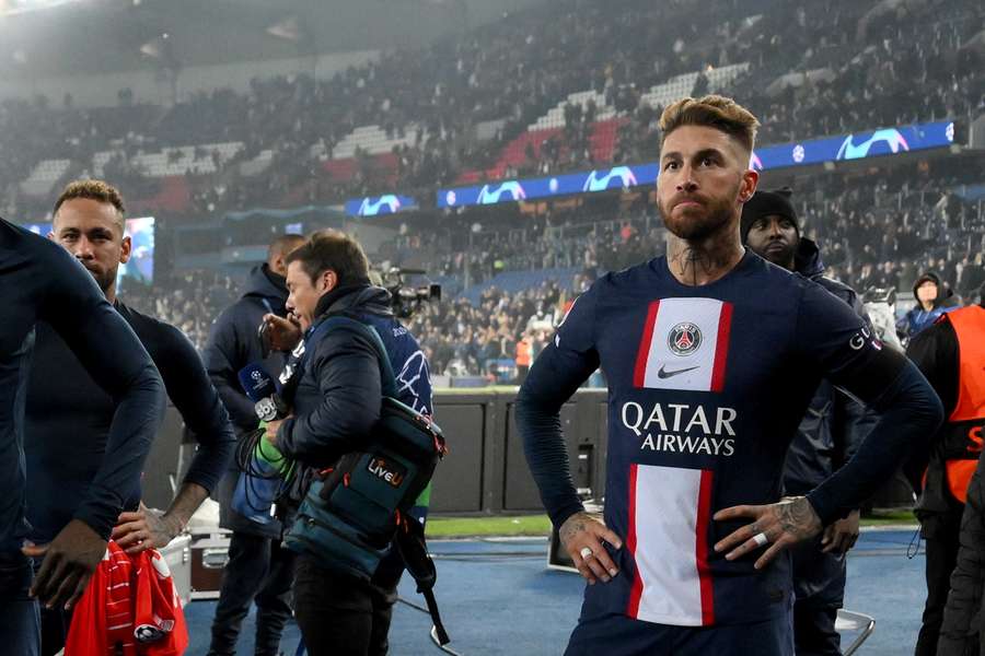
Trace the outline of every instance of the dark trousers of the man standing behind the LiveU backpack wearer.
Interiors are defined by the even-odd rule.
[[[277,656],[291,617],[294,553],[280,540],[233,531],[222,591],[212,621],[209,656],[232,656],[250,606],[256,600],[256,656]]]

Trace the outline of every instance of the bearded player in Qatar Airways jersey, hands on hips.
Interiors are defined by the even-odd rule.
[[[531,470],[590,584],[568,654],[792,654],[784,549],[857,507],[941,420],[919,372],[845,303],[742,247],[757,125],[720,96],[668,107],[657,184],[668,256],[598,280],[520,390]],[[604,524],[571,484],[558,419],[600,366]],[[780,500],[822,377],[881,419],[834,476]]]

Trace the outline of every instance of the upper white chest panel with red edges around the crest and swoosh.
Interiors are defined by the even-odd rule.
[[[721,391],[731,329],[731,303],[697,297],[653,301],[636,354],[634,387]],[[675,335],[683,337],[684,348],[671,347]]]

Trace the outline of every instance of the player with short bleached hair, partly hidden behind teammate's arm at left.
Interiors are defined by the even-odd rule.
[[[116,491],[124,513],[112,537],[127,553],[165,547],[188,523],[225,472],[235,447],[229,415],[195,347],[181,330],[127,307],[116,296],[117,272],[129,259],[124,201],[101,180],[69,184],[55,203],[51,237],[85,267],[134,329],[161,373],[197,449],[177,493],[162,514],[139,505],[140,471]],[[47,321],[36,327],[27,380],[25,445],[28,538],[45,544],[71,519],[103,461],[113,400],[95,385]],[[31,550],[28,550],[28,553]],[[70,614],[42,611],[42,656],[65,646]]]

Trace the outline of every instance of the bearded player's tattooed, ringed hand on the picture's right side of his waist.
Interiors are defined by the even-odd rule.
[[[780,551],[802,540],[813,538],[824,528],[821,518],[806,496],[788,496],[778,503],[762,506],[732,506],[715,513],[716,522],[750,518],[752,524],[733,531],[715,546],[715,551],[728,551],[726,560],[735,560],[769,544],[755,563],[766,566]],[[734,548],[734,549],[733,549]],[[731,549],[731,551],[729,551]]]

